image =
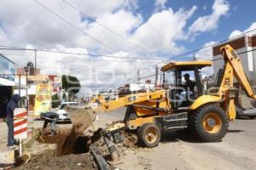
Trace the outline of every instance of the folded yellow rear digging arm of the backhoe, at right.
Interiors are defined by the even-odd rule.
[[[230,46],[225,45],[220,49],[224,57],[224,75],[218,90],[219,96],[224,96],[224,109],[229,113],[229,119],[236,118],[235,94],[233,88],[233,78],[236,77],[241,88],[245,91],[248,97],[256,99],[253,88],[247,79],[247,75],[241,65],[241,59],[236,54],[236,51]]]

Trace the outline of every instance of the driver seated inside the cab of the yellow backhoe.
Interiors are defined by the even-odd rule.
[[[194,92],[194,87],[195,87],[195,82],[192,82],[190,80],[190,76],[188,73],[183,75],[184,79],[185,79],[185,84],[183,85],[183,88],[185,88],[185,91],[183,91],[180,94],[180,101],[179,101],[179,105],[182,105],[184,101],[187,100],[187,97],[189,97],[191,94],[193,94]]]

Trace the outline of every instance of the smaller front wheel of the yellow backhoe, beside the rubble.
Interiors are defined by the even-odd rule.
[[[154,123],[145,123],[138,128],[137,139],[144,147],[157,146],[161,139],[160,128]]]

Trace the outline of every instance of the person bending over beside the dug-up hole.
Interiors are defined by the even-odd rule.
[[[55,135],[55,125],[59,118],[59,115],[56,114],[55,112],[44,112],[44,113],[41,113],[40,116],[42,119],[44,119],[43,131],[44,131],[45,127],[47,127],[48,123],[50,123],[50,132],[51,132],[51,135],[54,136]]]

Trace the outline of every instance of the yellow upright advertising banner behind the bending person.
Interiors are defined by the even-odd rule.
[[[51,90],[52,90],[52,87],[50,84],[37,85],[34,116],[40,116],[42,112],[50,111]]]

